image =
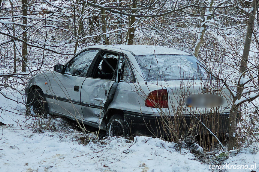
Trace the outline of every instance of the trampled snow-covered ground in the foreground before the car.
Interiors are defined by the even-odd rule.
[[[15,136],[15,137],[14,137]],[[4,171],[208,171],[206,165],[181,155],[171,143],[156,138],[106,139],[107,145],[77,144],[64,133],[3,130],[1,168]],[[143,149],[143,147],[145,147]]]

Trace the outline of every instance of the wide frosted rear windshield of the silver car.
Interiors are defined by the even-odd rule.
[[[146,81],[212,79],[191,55],[135,56]]]

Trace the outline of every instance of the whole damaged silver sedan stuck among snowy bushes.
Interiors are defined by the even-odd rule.
[[[204,130],[198,124],[226,132],[231,102],[230,92],[193,55],[146,45],[90,46],[31,77],[25,93],[35,113],[65,116],[107,136],[165,137]],[[217,95],[221,104],[191,102],[203,94]]]

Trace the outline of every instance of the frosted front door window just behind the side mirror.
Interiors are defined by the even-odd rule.
[[[80,53],[68,63],[65,73],[79,76],[86,76],[94,57],[99,50],[87,50]]]

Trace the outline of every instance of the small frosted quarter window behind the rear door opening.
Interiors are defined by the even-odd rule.
[[[126,57],[123,57],[122,64],[120,66],[121,66],[120,80],[125,82],[134,82],[135,81],[134,74],[131,70],[130,64]]]

